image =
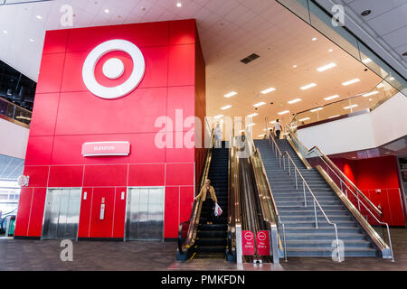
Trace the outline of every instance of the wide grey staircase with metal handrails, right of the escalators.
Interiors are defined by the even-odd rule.
[[[345,245],[345,256],[379,256],[379,251],[374,248],[364,229],[360,227],[317,169],[308,170],[287,140],[281,139],[276,142],[282,154],[286,151],[289,153],[328,219],[336,224],[338,238]],[[318,208],[318,228],[316,228],[314,199],[306,188],[308,206],[307,208],[304,206],[302,180],[299,181],[300,178],[298,178],[297,190],[292,169],[289,176],[288,170],[279,168],[279,160],[276,159],[269,140],[255,140],[255,144],[260,151],[281,222],[286,228],[287,256],[332,256],[336,248],[332,244],[336,240],[335,229],[327,223]]]

